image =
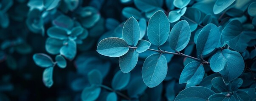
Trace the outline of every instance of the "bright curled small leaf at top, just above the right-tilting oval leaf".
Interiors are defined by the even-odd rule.
[[[180,20],[180,17],[185,14],[186,10],[187,10],[187,7],[170,11],[168,15],[169,22],[173,23]]]

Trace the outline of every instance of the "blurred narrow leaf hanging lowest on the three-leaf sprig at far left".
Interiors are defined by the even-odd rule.
[[[53,67],[49,67],[44,70],[42,81],[48,88],[53,85]]]

